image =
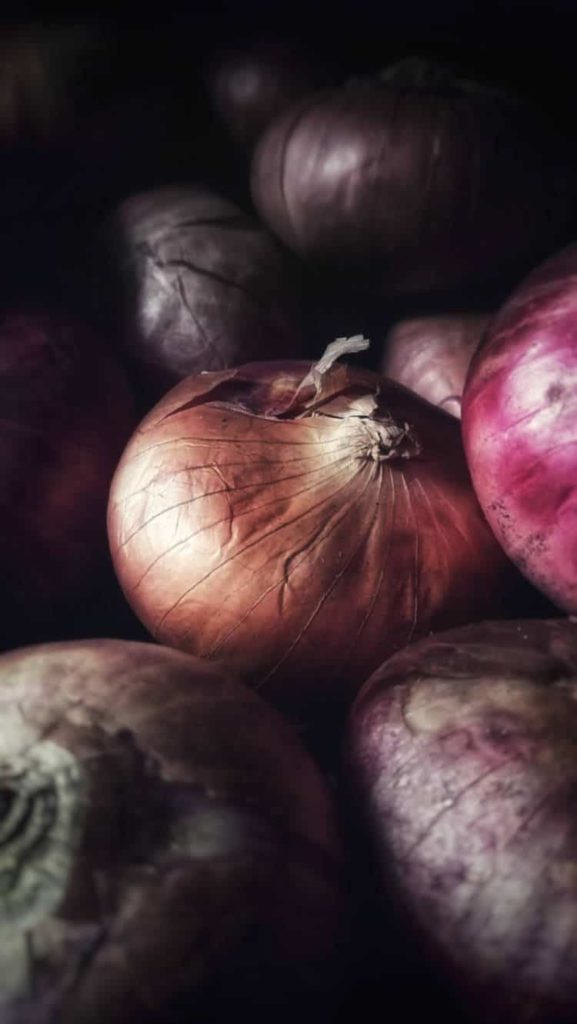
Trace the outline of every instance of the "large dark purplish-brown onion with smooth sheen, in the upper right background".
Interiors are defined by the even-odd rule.
[[[570,200],[553,152],[527,112],[481,87],[351,82],[272,123],[251,188],[312,263],[381,294],[445,292],[557,244]]]

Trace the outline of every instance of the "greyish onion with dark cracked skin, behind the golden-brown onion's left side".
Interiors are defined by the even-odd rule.
[[[193,185],[141,193],[106,233],[113,318],[153,401],[189,374],[301,354],[290,257],[226,199]]]

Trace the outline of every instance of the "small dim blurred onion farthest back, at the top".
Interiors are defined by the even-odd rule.
[[[317,85],[305,61],[276,41],[216,54],[205,78],[214,110],[247,151],[276,116]]]

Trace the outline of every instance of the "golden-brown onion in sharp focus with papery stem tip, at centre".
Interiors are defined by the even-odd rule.
[[[109,504],[117,577],[153,636],[305,713],[348,701],[414,636],[510,614],[514,573],[453,418],[322,362],[181,382],[133,435]]]

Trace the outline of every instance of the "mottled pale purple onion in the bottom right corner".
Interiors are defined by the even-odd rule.
[[[573,1024],[576,626],[483,623],[408,647],[363,687],[346,746],[383,895],[467,1020]]]

